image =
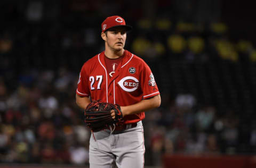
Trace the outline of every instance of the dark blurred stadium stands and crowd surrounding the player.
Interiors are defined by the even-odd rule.
[[[100,24],[133,26],[126,49],[151,67],[145,167],[256,167],[256,22],[250,1],[1,0],[0,167],[87,167],[79,71]],[[187,165],[186,165],[187,164]],[[31,166],[29,166],[31,165]]]

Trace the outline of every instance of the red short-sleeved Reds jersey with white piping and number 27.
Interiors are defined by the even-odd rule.
[[[128,106],[159,94],[153,73],[140,57],[125,50],[112,77],[107,72],[104,57],[105,52],[102,52],[84,63],[79,74],[77,95]],[[126,115],[124,123],[144,118],[144,112]]]

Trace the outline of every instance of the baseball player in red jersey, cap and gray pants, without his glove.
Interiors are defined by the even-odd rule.
[[[93,100],[118,104],[123,124],[93,132],[90,138],[90,167],[143,167],[145,111],[161,104],[149,66],[124,49],[126,32],[132,29],[121,16],[110,16],[101,24],[105,51],[84,63],[79,74],[76,103],[86,109]],[[114,118],[115,114],[111,114]]]

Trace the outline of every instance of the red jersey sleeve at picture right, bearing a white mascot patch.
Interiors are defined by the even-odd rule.
[[[156,81],[149,66],[143,62],[143,69],[141,72],[141,90],[143,92],[143,99],[159,95],[159,90]]]

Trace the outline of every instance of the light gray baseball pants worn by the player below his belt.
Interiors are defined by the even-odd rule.
[[[90,138],[90,168],[143,168],[144,154],[141,121],[137,127],[113,133],[106,129],[94,132]]]

